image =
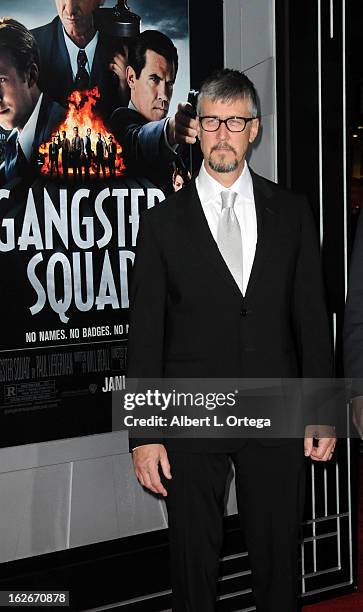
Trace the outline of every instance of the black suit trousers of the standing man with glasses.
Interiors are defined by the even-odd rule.
[[[304,498],[301,440],[257,440],[229,453],[169,452],[168,491],[173,612],[213,612],[231,460],[258,612],[298,610],[297,549]]]

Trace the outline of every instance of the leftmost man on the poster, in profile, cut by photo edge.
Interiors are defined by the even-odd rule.
[[[21,23],[0,20],[0,125],[12,130],[0,168],[1,183],[31,181],[37,174],[39,146],[49,142],[64,109],[38,86],[39,49]]]

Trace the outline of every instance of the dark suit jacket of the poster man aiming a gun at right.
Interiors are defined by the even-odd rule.
[[[179,157],[165,143],[165,121],[147,121],[131,108],[118,108],[111,127],[123,148],[127,174],[147,178],[164,193],[171,193],[173,162]]]

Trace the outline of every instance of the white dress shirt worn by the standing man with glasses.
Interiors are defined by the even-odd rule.
[[[257,243],[257,219],[255,198],[250,171],[245,162],[242,174],[226,189],[216,181],[205,169],[204,162],[196,178],[195,185],[202,204],[203,212],[207,219],[209,229],[215,241],[219,217],[222,211],[222,191],[235,191],[238,195],[234,204],[234,211],[241,228],[243,262],[243,295],[246,293],[250,278],[253,260],[255,258]]]

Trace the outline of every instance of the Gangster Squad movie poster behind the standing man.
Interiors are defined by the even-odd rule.
[[[1,446],[110,430],[139,214],[189,177],[187,0],[80,6],[0,2]]]

